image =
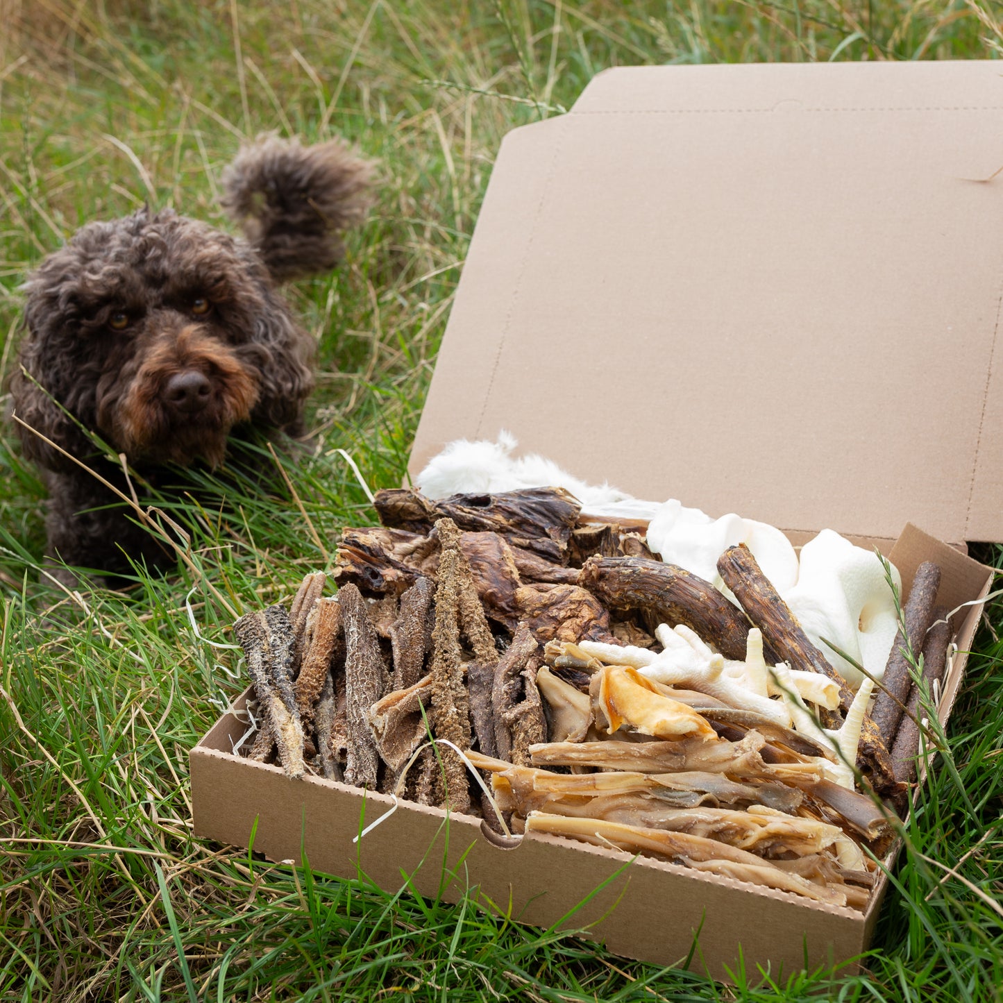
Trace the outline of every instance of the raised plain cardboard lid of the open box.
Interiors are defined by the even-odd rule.
[[[412,477],[506,428],[713,516],[1003,541],[1000,168],[1000,63],[600,74],[503,142]]]

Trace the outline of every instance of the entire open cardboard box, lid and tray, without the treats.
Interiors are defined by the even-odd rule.
[[[934,560],[939,602],[985,596],[992,572],[957,545],[1003,540],[1003,183],[983,183],[1001,108],[988,62],[600,74],[503,143],[412,474],[505,427],[585,479],[795,544],[829,527],[889,553],[907,589]],[[933,536],[897,537],[909,520]],[[979,616],[957,615],[944,721]],[[390,799],[241,759],[245,727],[227,714],[192,751],[195,831],[254,831],[272,860],[392,890],[412,874],[450,900],[468,883],[655,963],[699,931],[692,965],[715,977],[739,951],[774,972],[847,961],[877,922],[884,882],[861,914],[553,837],[499,850],[409,802],[353,844]]]

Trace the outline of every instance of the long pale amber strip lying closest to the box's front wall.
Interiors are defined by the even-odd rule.
[[[753,885],[763,885],[814,902],[843,906],[847,898],[837,889],[813,885],[797,875],[788,874],[745,850],[729,847],[686,832],[623,825],[599,818],[569,818],[532,811],[526,819],[527,832],[548,832],[581,840],[599,847],[610,844],[627,853],[641,853],[684,866],[700,865],[700,870],[725,874]]]

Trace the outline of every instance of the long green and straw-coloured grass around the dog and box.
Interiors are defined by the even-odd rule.
[[[0,430],[0,999],[178,999],[188,979],[220,1000],[1000,998],[999,607],[948,728],[972,807],[935,766],[865,972],[736,971],[729,989],[522,928],[476,889],[448,906],[193,840],[188,749],[245,684],[185,607],[194,589],[202,634],[230,641],[214,590],[238,611],[288,599],[341,526],[372,521],[337,449],[372,487],[399,483],[510,128],[613,65],[991,57],[998,5],[0,0],[0,377],[20,283],[83,223],[147,200],[222,223],[222,168],[261,130],[337,132],[381,161],[345,265],[292,290],[320,376],[316,435],[278,452],[291,489],[179,471],[182,491],[148,499],[191,534],[192,566],[137,568],[121,592],[47,584],[43,488]]]

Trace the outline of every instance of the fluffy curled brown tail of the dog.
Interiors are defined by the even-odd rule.
[[[372,204],[373,166],[340,139],[303,146],[259,136],[224,172],[223,208],[276,281],[325,272],[344,253],[342,231]]]

